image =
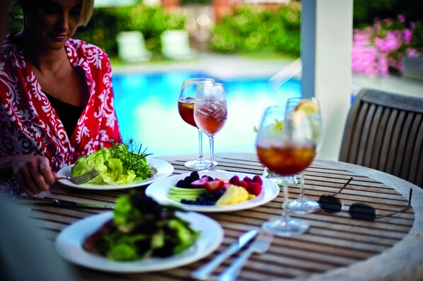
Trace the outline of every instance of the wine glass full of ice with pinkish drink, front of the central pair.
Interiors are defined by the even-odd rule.
[[[214,165],[214,136],[224,127],[228,119],[228,107],[224,85],[221,83],[199,83],[195,94],[194,120],[209,136],[210,166],[207,171],[216,171]]]

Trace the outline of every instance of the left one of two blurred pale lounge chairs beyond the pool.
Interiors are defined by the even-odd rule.
[[[146,49],[144,35],[140,31],[123,31],[117,35],[117,52],[122,61],[136,63],[148,61],[151,52]]]

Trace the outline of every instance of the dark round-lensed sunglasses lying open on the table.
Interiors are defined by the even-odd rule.
[[[347,183],[344,184],[344,186],[342,186],[342,189],[344,189],[345,186],[347,186],[350,181],[352,181],[352,178],[350,178],[347,181]],[[339,194],[342,191],[342,189],[340,189],[340,191],[338,191],[337,193],[320,196],[318,200],[318,204],[320,205],[320,208],[324,210],[326,213],[342,212],[342,203],[338,198],[335,198],[335,195]],[[367,220],[369,222],[372,222],[373,220],[381,219],[383,217],[390,217],[410,209],[411,197],[412,197],[412,189],[410,189],[410,196],[408,198],[408,206],[402,210],[398,210],[388,215],[376,215],[375,208],[373,208],[371,205],[367,205],[364,203],[354,203],[350,205],[348,213],[349,213],[349,216],[351,216],[355,220]]]

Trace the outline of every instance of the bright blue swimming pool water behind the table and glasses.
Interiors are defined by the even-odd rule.
[[[185,70],[114,73],[116,114],[124,140],[142,143],[152,157],[197,154],[197,129],[182,121],[178,112],[180,87],[185,78],[195,77],[209,76]],[[216,79],[226,90],[228,121],[214,138],[214,153],[255,152],[253,128],[265,108],[301,95],[299,80],[274,89],[269,78]],[[204,156],[209,157],[207,136],[203,141]]]

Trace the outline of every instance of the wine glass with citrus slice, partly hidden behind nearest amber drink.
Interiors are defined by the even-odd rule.
[[[323,140],[322,115],[320,114],[318,100],[315,97],[311,99],[293,97],[287,100],[286,112],[293,112],[295,110],[303,110],[306,112],[312,126],[313,140],[315,141],[317,152]],[[304,171],[301,171],[300,174],[300,195],[295,200],[290,201],[287,208],[290,212],[298,214],[313,213],[320,208],[316,201],[308,199],[304,195]]]

